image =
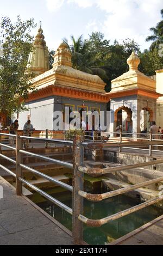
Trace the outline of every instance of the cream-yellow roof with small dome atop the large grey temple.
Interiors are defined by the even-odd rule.
[[[33,84],[37,89],[45,88],[52,84],[55,86],[56,84],[96,93],[105,92],[105,83],[99,76],[72,68],[71,52],[65,43],[60,44],[54,54],[53,68],[35,77]]]

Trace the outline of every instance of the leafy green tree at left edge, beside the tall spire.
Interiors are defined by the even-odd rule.
[[[29,90],[34,90],[26,66],[34,40],[30,32],[35,26],[33,19],[22,21],[20,16],[17,16],[17,21],[12,23],[9,17],[2,18],[0,112],[8,116],[24,109],[23,100],[27,99]]]

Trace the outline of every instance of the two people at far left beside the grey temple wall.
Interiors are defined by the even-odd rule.
[[[16,132],[18,130],[18,120],[16,119],[13,123],[10,124],[10,131],[9,133],[11,135],[16,135]],[[24,124],[23,127],[23,134],[24,136],[28,136],[30,137],[33,133],[33,131],[35,131],[33,125],[31,124],[31,121],[28,120],[26,124]],[[10,146],[12,146],[14,144],[14,137],[9,137],[9,144]]]

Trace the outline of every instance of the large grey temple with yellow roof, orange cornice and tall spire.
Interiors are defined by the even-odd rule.
[[[32,84],[36,92],[29,93],[27,111],[19,114],[20,129],[31,119],[36,130],[53,130],[54,111],[106,111],[108,97],[105,83],[96,75],[72,68],[71,52],[63,42],[54,54],[49,70],[46,42],[39,29],[34,41],[34,53],[29,55],[27,72],[35,76]]]

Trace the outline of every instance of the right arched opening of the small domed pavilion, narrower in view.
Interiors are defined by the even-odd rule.
[[[153,111],[149,107],[142,108],[140,111],[140,132],[148,133],[151,122],[153,121]]]

